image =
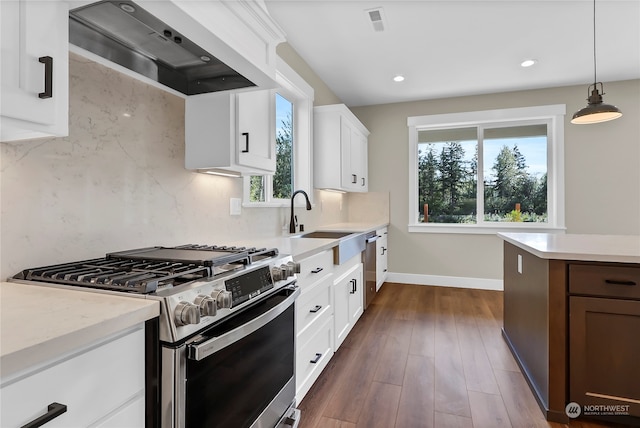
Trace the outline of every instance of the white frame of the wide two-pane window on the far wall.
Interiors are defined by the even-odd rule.
[[[564,210],[564,122],[565,104],[519,107],[496,110],[445,113],[407,118],[409,132],[409,221],[408,231],[414,233],[470,233],[496,232],[562,232],[565,228]],[[487,222],[484,221],[484,156],[478,142],[478,186],[476,224],[418,222],[418,132],[423,130],[461,127],[500,128],[521,124],[547,123],[547,222]]]

